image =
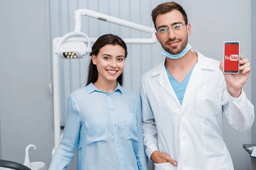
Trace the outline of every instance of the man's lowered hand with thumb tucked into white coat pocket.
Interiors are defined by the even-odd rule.
[[[150,159],[155,163],[155,164],[161,164],[161,163],[166,163],[170,162],[172,165],[177,166],[177,162],[173,160],[169,155],[166,153],[159,152],[158,150],[154,151],[151,154]]]

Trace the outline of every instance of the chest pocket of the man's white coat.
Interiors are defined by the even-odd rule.
[[[197,112],[199,116],[216,115],[221,111],[222,89],[198,90]]]

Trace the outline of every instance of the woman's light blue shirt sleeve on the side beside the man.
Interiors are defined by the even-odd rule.
[[[136,154],[137,164],[139,170],[148,170],[147,158],[145,154],[145,148],[143,144],[143,131],[142,131],[142,110],[141,110],[141,100],[137,103],[137,131],[139,137],[138,152]]]

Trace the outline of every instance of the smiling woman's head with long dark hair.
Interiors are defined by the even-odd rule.
[[[112,34],[99,37],[92,47],[90,56],[92,59],[88,69],[87,85],[96,81],[96,85],[104,82],[116,83],[115,81],[122,85],[127,46],[120,37]]]

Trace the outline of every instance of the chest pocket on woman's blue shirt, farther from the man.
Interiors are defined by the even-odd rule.
[[[87,145],[93,145],[95,142],[108,141],[108,128],[103,113],[84,119],[87,129],[85,142]]]

